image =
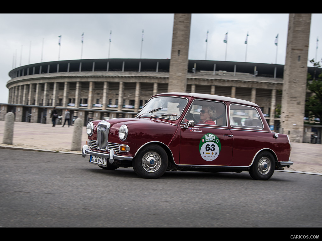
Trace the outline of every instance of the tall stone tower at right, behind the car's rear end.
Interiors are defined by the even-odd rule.
[[[290,13],[283,76],[281,128],[290,141],[302,142],[311,13]]]

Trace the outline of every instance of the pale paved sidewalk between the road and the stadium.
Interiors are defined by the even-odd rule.
[[[81,154],[81,147],[86,144],[86,127],[81,135],[79,151],[71,151],[74,126],[14,122],[13,145],[5,145],[3,134],[5,121],[0,121],[0,148],[32,149],[39,151]],[[308,143],[291,143],[291,161],[294,162],[285,171],[322,174],[322,145]]]

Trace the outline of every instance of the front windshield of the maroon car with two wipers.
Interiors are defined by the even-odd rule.
[[[187,102],[187,99],[179,97],[156,97],[147,102],[137,117],[176,120],[185,109]]]

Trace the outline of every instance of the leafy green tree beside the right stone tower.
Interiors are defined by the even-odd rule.
[[[320,62],[314,62],[314,59],[310,60],[314,67],[321,67]],[[305,111],[309,113],[310,117],[319,118],[320,125],[322,125],[322,73],[318,75],[318,78],[308,77],[308,90],[313,95],[308,96],[305,103]]]

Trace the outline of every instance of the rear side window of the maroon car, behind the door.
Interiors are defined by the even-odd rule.
[[[263,129],[263,122],[256,108],[231,104],[229,121],[233,128]]]

